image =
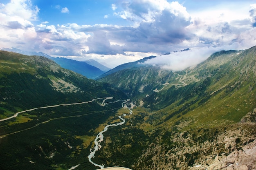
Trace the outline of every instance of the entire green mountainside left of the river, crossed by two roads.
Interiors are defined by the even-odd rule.
[[[110,104],[100,106],[106,97],[113,97]],[[84,157],[94,130],[121,108],[119,99],[127,97],[110,84],[45,57],[0,51],[0,120],[38,108],[0,121],[0,169],[68,169],[81,162],[82,169],[95,169]]]

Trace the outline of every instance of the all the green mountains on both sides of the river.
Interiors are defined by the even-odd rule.
[[[188,49],[189,50],[189,49]],[[256,46],[213,53],[182,71],[122,64],[96,80],[46,57],[0,51],[1,169],[95,170],[87,156],[104,132],[94,162],[132,170],[256,169]],[[113,97],[106,107],[104,97]],[[98,98],[102,98],[101,100]],[[98,101],[99,100],[99,101]]]

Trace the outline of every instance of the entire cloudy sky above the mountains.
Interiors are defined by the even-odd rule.
[[[0,48],[181,70],[255,46],[256,0],[0,0],[0,35]]]

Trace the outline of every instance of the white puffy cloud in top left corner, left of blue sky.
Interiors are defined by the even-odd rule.
[[[32,24],[39,9],[30,0],[11,0],[0,5],[0,46],[28,48],[36,38]]]

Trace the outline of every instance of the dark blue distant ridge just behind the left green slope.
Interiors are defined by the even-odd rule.
[[[99,75],[105,73],[104,71],[101,71],[99,68],[87,64],[86,62],[71,60],[64,57],[51,57],[50,59],[54,60],[61,67],[72,70],[90,79],[95,79]]]

